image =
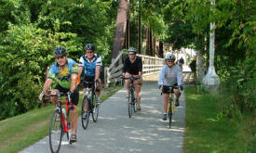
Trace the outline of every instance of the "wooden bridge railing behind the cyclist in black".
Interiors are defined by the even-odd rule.
[[[158,73],[164,66],[164,59],[159,57],[150,57],[137,54],[142,59],[142,76],[148,76]],[[122,75],[123,63],[128,57],[128,52],[121,51],[113,60],[109,67],[104,69],[104,87],[107,88],[110,83],[120,82],[119,77]]]

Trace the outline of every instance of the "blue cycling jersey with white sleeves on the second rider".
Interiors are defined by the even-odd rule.
[[[88,77],[95,77],[96,66],[102,66],[101,56],[94,54],[91,60],[87,55],[80,57],[78,67],[84,67],[84,73]]]

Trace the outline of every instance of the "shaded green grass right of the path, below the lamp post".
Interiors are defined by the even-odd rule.
[[[228,119],[221,112],[221,96],[196,92],[195,88],[187,88],[185,94],[185,153],[256,152],[253,115]]]

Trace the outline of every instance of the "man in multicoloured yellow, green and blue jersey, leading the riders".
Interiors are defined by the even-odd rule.
[[[66,49],[62,46],[57,47],[53,53],[56,62],[50,67],[48,71],[47,80],[44,84],[43,91],[39,95],[39,99],[42,100],[43,96],[45,96],[53,80],[57,81],[58,83],[51,91],[51,95],[57,95],[60,92],[71,92],[71,100],[74,104],[74,109],[71,109],[70,111],[72,115],[71,122],[73,129],[73,134],[71,135],[70,141],[74,143],[76,142],[76,128],[78,122],[77,104],[79,93],[78,87],[76,86],[78,64],[73,59],[67,57]],[[51,101],[53,105],[56,106],[58,103],[58,97],[51,97]],[[60,121],[60,116],[58,120]]]

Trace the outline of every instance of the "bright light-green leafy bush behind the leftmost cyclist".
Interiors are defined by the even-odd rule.
[[[72,54],[79,45],[74,37],[72,33],[53,34],[29,24],[11,26],[0,38],[0,54],[5,56],[0,67],[1,119],[38,106],[37,96],[42,90],[46,68],[54,61],[53,49],[63,45]]]

